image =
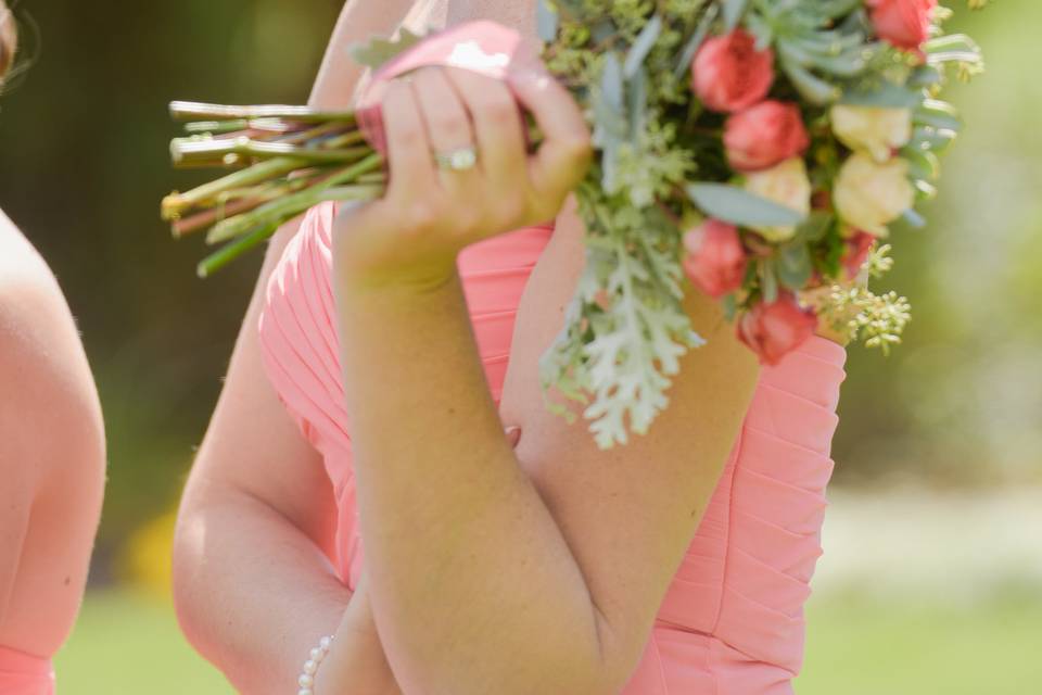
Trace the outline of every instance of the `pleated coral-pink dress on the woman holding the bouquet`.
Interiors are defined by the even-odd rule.
[[[344,407],[330,232],[335,206],[308,212],[267,287],[259,321],[269,378],[322,454],[339,509],[336,556],[363,564]],[[474,334],[498,404],[514,315],[552,229],[526,227],[459,256]],[[712,501],[658,612],[624,695],[790,695],[803,659],[803,604],[821,528],[846,350],[813,337],[762,370]]]

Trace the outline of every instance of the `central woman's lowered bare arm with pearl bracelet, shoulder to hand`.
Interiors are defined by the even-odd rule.
[[[352,0],[336,24],[312,92],[314,106],[345,106],[361,70],[344,51],[390,34],[408,0]],[[272,240],[232,354],[225,387],[189,478],[174,548],[178,619],[194,646],[251,695],[295,692],[308,649],[351,603],[327,560],[334,501],[319,455],[303,439],[264,374],[257,318],[285,243]],[[355,611],[358,607],[355,607]],[[371,621],[359,621],[361,626]],[[352,634],[353,681],[394,693],[374,631]],[[365,658],[363,658],[365,657]],[[374,658],[381,657],[381,658]]]

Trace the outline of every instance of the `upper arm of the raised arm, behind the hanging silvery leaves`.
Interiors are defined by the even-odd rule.
[[[584,258],[574,206],[557,222],[521,301],[500,415],[521,426],[519,462],[610,628],[606,647],[627,672],[734,446],[759,367],[716,303],[688,286],[685,306],[707,344],[683,358],[670,405],[647,434],[599,450],[581,416],[570,426],[546,410],[539,389],[537,361],[561,327]]]

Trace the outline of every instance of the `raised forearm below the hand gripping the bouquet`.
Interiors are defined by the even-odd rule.
[[[598,692],[598,619],[503,437],[458,277],[336,282],[373,612],[405,693]]]

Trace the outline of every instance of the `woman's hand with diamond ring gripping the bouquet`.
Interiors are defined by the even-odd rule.
[[[545,138],[533,155],[518,101]],[[334,271],[355,288],[444,283],[468,244],[552,219],[592,159],[579,105],[548,74],[511,77],[508,86],[459,67],[423,67],[391,81],[382,112],[387,189],[345,206],[334,229]],[[467,147],[478,153],[471,168],[435,166],[435,152]]]

